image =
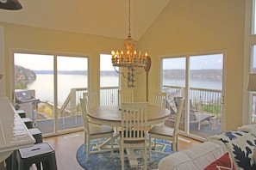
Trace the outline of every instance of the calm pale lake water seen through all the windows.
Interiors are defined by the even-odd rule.
[[[61,106],[71,92],[71,88],[88,88],[87,76],[84,75],[58,75],[58,103]],[[28,89],[35,90],[35,98],[42,101],[53,102],[53,75],[37,74],[36,81],[28,85]],[[164,80],[164,85],[183,86],[184,80]],[[118,76],[102,76],[102,87],[118,86]],[[222,89],[222,82],[215,81],[191,81],[190,87]]]

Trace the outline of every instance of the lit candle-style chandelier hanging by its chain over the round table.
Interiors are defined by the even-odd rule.
[[[131,36],[131,1],[129,0],[128,9],[128,39],[125,39],[124,49],[122,51],[112,51],[112,65],[116,72],[122,74],[123,77],[128,80],[128,88],[135,87],[135,76],[136,74],[143,73],[144,70],[148,73],[150,69],[150,58],[147,56],[147,52],[137,52],[136,45]],[[127,74],[119,68],[127,68]]]

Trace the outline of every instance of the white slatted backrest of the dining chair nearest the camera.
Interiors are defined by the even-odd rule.
[[[122,141],[145,140],[147,102],[122,103]]]

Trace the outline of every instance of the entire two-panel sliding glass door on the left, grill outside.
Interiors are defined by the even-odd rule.
[[[84,57],[14,53],[16,107],[44,135],[82,127],[78,99],[88,88],[87,70]],[[34,100],[17,98],[27,92]]]

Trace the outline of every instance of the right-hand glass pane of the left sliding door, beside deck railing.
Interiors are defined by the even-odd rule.
[[[88,58],[57,57],[58,131],[84,126],[79,98],[88,88]]]

